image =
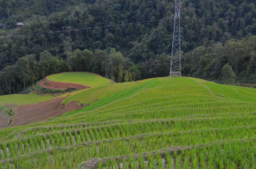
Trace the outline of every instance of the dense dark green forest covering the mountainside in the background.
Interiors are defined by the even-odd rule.
[[[236,82],[255,82],[255,5],[182,0],[182,76],[222,80],[228,63]],[[173,18],[173,0],[0,0],[0,30],[10,30],[0,37],[0,95],[65,71],[115,82],[166,77]]]

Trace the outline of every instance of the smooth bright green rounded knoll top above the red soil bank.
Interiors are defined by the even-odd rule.
[[[51,75],[48,78],[54,82],[76,83],[90,87],[106,85],[111,82],[107,78],[89,72],[65,72]]]

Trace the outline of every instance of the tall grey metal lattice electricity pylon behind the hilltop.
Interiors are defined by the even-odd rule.
[[[175,0],[175,16],[172,38],[171,76],[181,76],[180,61],[180,0]]]

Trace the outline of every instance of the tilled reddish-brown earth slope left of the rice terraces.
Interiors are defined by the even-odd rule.
[[[61,104],[64,99],[66,98],[53,98],[33,105],[19,106],[12,119],[12,126],[20,126],[35,121],[43,121],[89,105],[81,104],[78,106],[78,102],[75,101],[67,104]]]

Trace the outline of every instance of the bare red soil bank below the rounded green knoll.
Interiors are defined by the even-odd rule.
[[[76,84],[76,83],[64,83],[64,82],[53,82],[45,77],[45,79],[39,83],[40,86],[49,88],[49,89],[62,89],[66,90],[68,87],[74,87],[78,90],[90,88],[89,86]]]

